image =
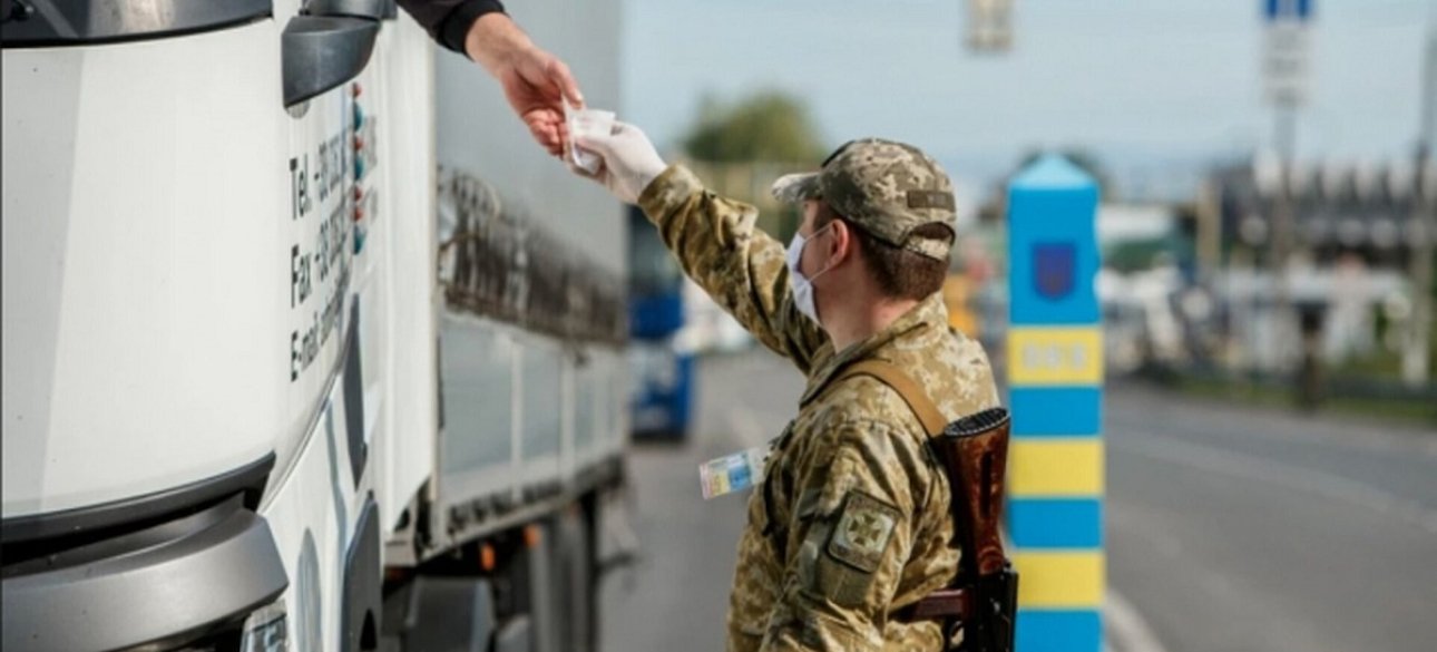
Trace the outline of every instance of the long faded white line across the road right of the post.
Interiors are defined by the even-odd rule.
[[[1420,502],[1401,498],[1365,482],[1358,482],[1355,479],[1344,478],[1325,471],[1183,442],[1173,438],[1161,438],[1155,435],[1142,436],[1144,439],[1124,440],[1122,443],[1109,445],[1109,448],[1117,450],[1131,450],[1151,459],[1191,466],[1194,469],[1227,475],[1232,478],[1267,482],[1288,489],[1345,501],[1357,507],[1394,515],[1408,524],[1437,534],[1437,511],[1427,510]]]

